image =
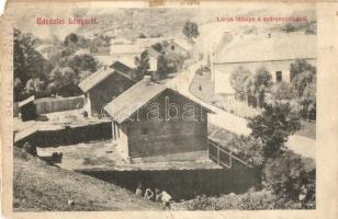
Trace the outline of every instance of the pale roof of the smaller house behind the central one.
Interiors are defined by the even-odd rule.
[[[99,70],[97,70],[94,73],[90,74],[88,78],[86,78],[84,80],[82,80],[79,83],[79,88],[83,91],[83,92],[88,92],[89,90],[91,90],[92,88],[94,88],[95,85],[98,85],[99,83],[101,83],[104,79],[106,79],[108,77],[112,76],[113,73],[119,73],[129,80],[135,81],[131,76],[128,76],[127,73],[124,73],[117,69],[114,68],[110,68],[110,67],[102,67]]]

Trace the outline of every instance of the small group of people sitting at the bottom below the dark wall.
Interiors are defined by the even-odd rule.
[[[166,191],[160,191],[159,188],[155,188],[155,191],[150,188],[146,188],[145,192],[143,193],[143,186],[142,184],[138,184],[135,195],[138,197],[144,197],[147,200],[153,200],[156,203],[162,203],[164,209],[170,209],[170,200],[171,200],[171,195],[167,193]]]

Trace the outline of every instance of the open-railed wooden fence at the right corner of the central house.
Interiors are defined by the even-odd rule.
[[[218,165],[227,169],[251,168],[244,159],[240,159],[232,150],[209,139],[207,143],[209,158]]]

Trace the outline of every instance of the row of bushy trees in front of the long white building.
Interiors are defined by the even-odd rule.
[[[235,97],[260,108],[264,103],[292,103],[293,111],[303,119],[316,120],[317,69],[304,59],[290,65],[290,83],[272,82],[272,74],[264,67],[256,72],[240,66],[230,76]]]

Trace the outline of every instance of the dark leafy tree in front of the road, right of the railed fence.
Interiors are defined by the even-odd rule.
[[[274,158],[284,149],[288,137],[301,128],[300,118],[291,112],[290,104],[264,104],[261,115],[249,118],[251,136],[263,143],[266,158]]]

